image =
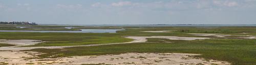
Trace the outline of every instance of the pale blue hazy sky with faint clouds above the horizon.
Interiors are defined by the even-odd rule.
[[[256,0],[0,0],[0,21],[66,25],[256,24]]]

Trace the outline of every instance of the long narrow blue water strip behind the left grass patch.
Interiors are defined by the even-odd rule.
[[[81,31],[17,31],[17,30],[0,30],[0,32],[67,32],[67,33],[116,33],[124,29],[81,29]]]

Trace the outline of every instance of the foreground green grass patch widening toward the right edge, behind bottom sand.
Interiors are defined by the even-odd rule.
[[[180,41],[173,43],[134,43],[104,45],[94,47],[74,47],[60,49],[33,49],[27,51],[37,51],[47,53],[39,55],[41,58],[46,57],[67,57],[67,56],[84,56],[84,55],[103,55],[103,54],[120,54],[128,52],[137,53],[196,53],[206,59],[216,59],[229,61],[232,64],[256,64],[256,40],[254,39],[206,39]],[[60,54],[60,55],[58,55]]]

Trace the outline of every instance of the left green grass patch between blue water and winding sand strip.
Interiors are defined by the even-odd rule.
[[[123,38],[115,33],[32,33],[32,32],[0,32],[0,39],[35,39],[49,42],[25,46],[77,46],[90,44],[109,44],[128,42],[132,39]]]

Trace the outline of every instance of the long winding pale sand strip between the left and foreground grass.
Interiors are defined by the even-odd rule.
[[[134,42],[146,42],[146,38],[166,38],[172,40],[196,40],[196,39],[209,39],[206,37],[178,37],[178,36],[127,36],[125,38],[134,39],[130,42],[119,42],[112,44],[96,44],[96,45],[81,45],[81,46],[50,46],[50,47],[0,47],[0,50],[11,50],[11,51],[20,51],[20,50],[31,50],[38,48],[45,49],[59,49],[59,48],[70,48],[70,47],[89,47],[89,46],[100,46],[100,45],[114,45],[114,44],[129,44]],[[1,42],[1,41],[0,41]]]

